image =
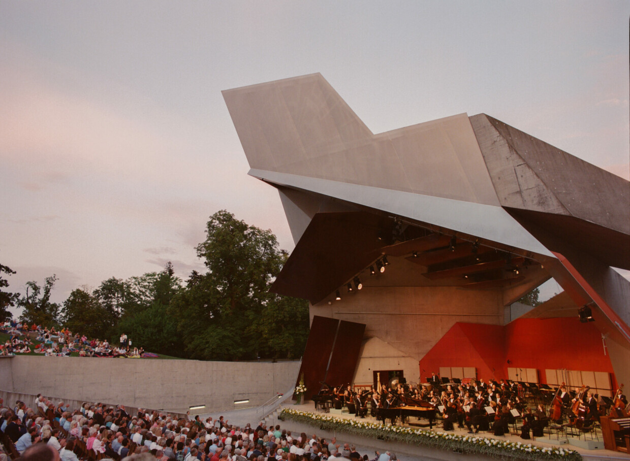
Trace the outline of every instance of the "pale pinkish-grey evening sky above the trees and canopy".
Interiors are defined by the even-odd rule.
[[[374,133],[486,113],[630,179],[629,18],[626,0],[0,1],[8,290],[56,274],[62,302],[166,261],[185,280],[221,209],[292,250],[221,91],[313,72]]]

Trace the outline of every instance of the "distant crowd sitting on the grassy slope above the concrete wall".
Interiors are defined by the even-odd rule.
[[[142,357],[145,354],[143,348],[131,348],[131,341],[127,341],[125,334],[121,336],[119,346],[111,346],[107,340],[90,340],[79,333],[73,335],[67,328],[56,331],[55,327],[49,329],[35,324],[29,327],[26,323],[6,321],[0,331],[10,335],[8,341],[0,344],[0,355],[3,356],[30,352],[47,356],[70,356],[72,352],[78,352],[82,357]],[[31,336],[41,342],[33,346]]]

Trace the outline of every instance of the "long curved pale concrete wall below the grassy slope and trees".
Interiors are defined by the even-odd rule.
[[[258,406],[295,383],[298,361],[227,362],[15,356],[0,359],[0,389],[67,401],[183,412]]]

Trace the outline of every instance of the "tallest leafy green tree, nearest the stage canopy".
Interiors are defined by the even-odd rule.
[[[308,331],[306,302],[287,301],[269,291],[287,258],[271,231],[221,210],[207,222],[206,238],[198,244],[197,256],[204,259],[208,272],[193,271],[186,288],[173,299],[188,356],[242,360],[295,355],[296,347],[303,350],[304,344],[296,345],[282,334],[280,323],[287,321],[287,330],[306,339],[302,334],[304,318]],[[278,316],[275,323],[273,316]],[[278,338],[287,344],[281,346]],[[268,344],[270,340],[273,346]]]

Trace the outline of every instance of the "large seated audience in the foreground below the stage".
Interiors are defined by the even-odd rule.
[[[171,414],[139,409],[135,416],[105,404],[84,404],[71,410],[59,402],[37,397],[37,409],[18,401],[13,408],[0,399],[0,461],[12,449],[23,461],[320,461],[369,460],[353,445],[340,445],[291,431],[279,425],[253,428],[233,426],[221,418],[177,418]],[[7,446],[7,445],[13,445]],[[14,452],[13,452],[14,453]],[[372,461],[396,460],[396,455],[375,452]],[[14,457],[12,458],[14,459]]]

